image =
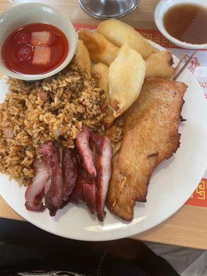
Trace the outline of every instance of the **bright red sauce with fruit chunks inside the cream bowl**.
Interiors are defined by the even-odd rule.
[[[8,69],[39,75],[57,68],[68,55],[68,39],[59,28],[32,23],[12,32],[1,50]]]

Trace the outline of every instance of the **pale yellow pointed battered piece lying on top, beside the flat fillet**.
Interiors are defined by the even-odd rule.
[[[139,97],[145,74],[144,59],[125,43],[108,71],[109,101],[114,117],[119,117]]]

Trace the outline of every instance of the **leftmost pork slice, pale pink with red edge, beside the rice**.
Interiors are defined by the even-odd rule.
[[[27,210],[43,212],[45,206],[43,206],[42,199],[46,183],[50,179],[50,172],[48,172],[46,164],[39,159],[35,159],[34,168],[35,175],[32,184],[28,186],[25,193],[25,206]]]

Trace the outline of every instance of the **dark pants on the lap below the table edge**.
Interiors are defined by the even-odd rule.
[[[91,276],[178,275],[141,242],[79,242],[52,235],[28,222],[0,219],[0,275],[35,270]]]

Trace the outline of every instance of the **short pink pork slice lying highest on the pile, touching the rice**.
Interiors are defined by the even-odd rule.
[[[89,146],[90,132],[88,126],[83,126],[82,131],[77,135],[76,146],[79,154],[81,155],[83,168],[92,175],[97,176],[97,171],[92,159],[92,151]]]

